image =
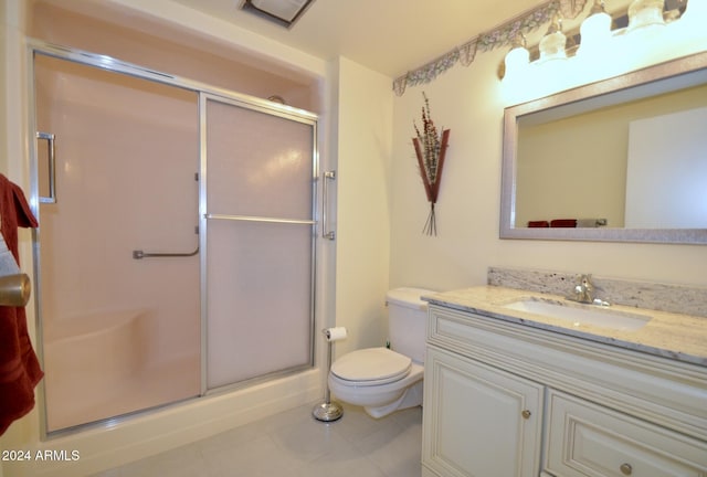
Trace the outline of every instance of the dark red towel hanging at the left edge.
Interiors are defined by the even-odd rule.
[[[0,232],[19,263],[18,226],[35,227],[36,219],[22,189],[0,174]],[[24,308],[0,306],[0,435],[34,407],[34,386],[44,373],[27,330]]]

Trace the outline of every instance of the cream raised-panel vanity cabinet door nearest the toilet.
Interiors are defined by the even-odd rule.
[[[537,477],[542,385],[428,347],[423,476]]]

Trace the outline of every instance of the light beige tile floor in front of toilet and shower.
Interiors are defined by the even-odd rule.
[[[312,405],[247,424],[93,477],[415,477],[422,407],[374,420],[345,405],[334,423]]]

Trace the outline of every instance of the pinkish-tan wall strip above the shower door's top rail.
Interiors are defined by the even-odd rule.
[[[75,9],[77,3],[68,6]],[[110,6],[77,12],[52,0],[38,0],[28,34],[211,87],[261,98],[279,95],[291,106],[320,110],[318,82],[312,72],[286,67],[272,59],[262,59],[258,63],[251,53],[234,51],[233,45],[229,47],[222,40],[203,38],[197,32],[178,32],[179,28],[173,24],[145,14],[129,15]]]

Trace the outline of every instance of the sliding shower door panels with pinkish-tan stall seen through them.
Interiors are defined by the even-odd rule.
[[[312,367],[314,115],[40,53],[34,78],[46,431]]]

